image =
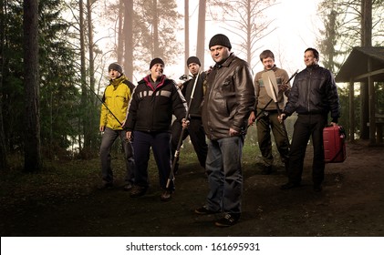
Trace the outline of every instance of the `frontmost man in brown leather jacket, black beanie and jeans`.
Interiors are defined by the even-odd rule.
[[[255,103],[251,68],[231,53],[227,36],[218,34],[209,43],[216,63],[207,76],[202,124],[209,138],[206,172],[210,191],[197,214],[223,212],[215,225],[229,227],[241,215],[242,153],[247,120]]]

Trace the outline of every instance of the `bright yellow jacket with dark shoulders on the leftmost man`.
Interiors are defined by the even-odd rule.
[[[115,80],[110,80],[109,86],[104,91],[104,104],[101,104],[100,127],[112,128],[114,130],[123,129],[121,124],[123,124],[127,117],[133,88],[133,84],[124,75],[119,76]]]

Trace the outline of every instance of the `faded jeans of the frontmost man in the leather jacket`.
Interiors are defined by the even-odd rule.
[[[210,187],[208,209],[241,213],[243,145],[243,137],[209,140],[205,165]]]

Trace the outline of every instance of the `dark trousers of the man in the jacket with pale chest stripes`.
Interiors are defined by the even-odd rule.
[[[135,151],[135,185],[147,188],[150,184],[148,178],[148,162],[150,148],[159,170],[161,189],[166,189],[171,172],[171,134],[168,132],[147,133],[133,132],[133,150]],[[171,181],[169,189],[174,189]]]

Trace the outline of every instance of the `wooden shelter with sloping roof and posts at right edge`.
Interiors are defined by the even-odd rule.
[[[346,62],[340,67],[336,82],[349,83],[349,138],[354,140],[355,130],[355,83],[363,82],[368,86],[369,143],[382,143],[383,117],[375,108],[375,82],[384,82],[384,47],[354,47]],[[376,138],[376,134],[378,135]]]

